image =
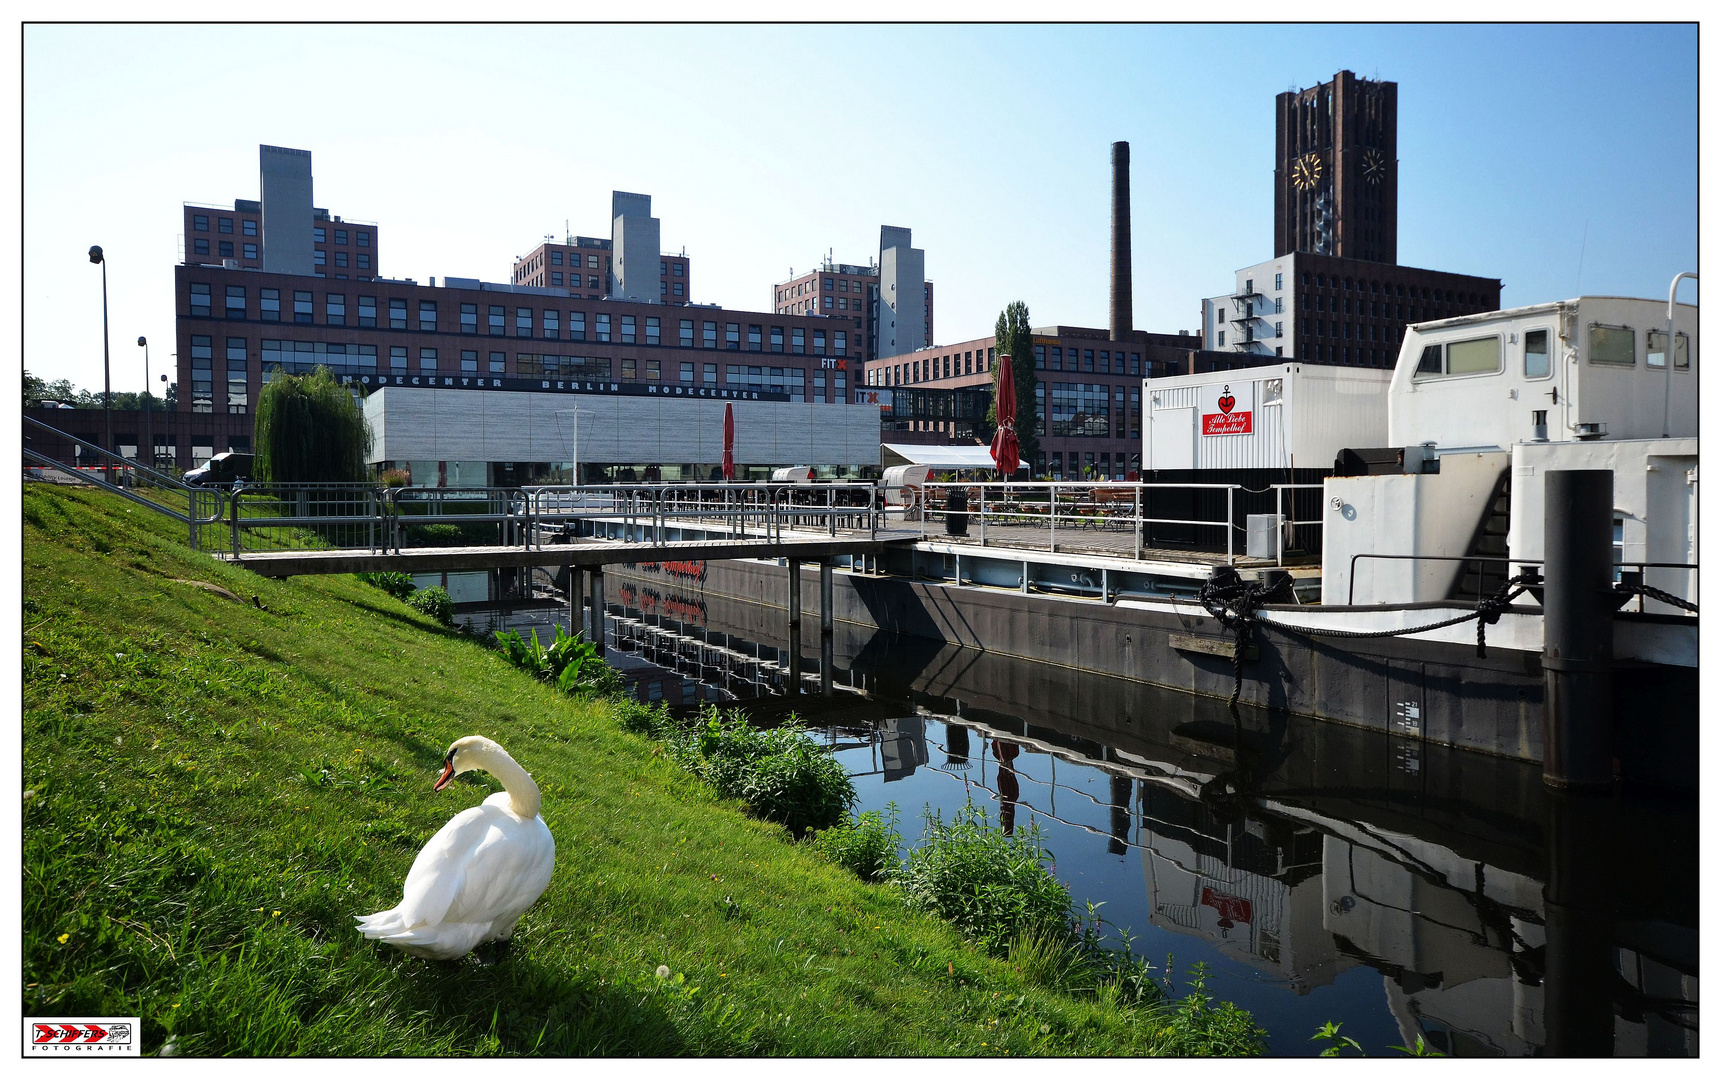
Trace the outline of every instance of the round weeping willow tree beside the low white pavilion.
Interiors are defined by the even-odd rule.
[[[370,425],[329,368],[275,371],[256,399],[255,475],[265,483],[361,483]]]

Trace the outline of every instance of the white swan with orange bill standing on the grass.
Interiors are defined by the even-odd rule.
[[[358,915],[365,937],[413,956],[454,960],[485,941],[508,941],[556,868],[556,841],[539,817],[532,776],[494,741],[468,734],[442,758],[435,791],[472,769],[503,781],[482,805],[461,810],[430,838],[406,874],[399,905]]]

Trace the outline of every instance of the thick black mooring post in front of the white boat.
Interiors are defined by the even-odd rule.
[[[1542,781],[1613,782],[1613,469],[1551,469],[1542,525]]]

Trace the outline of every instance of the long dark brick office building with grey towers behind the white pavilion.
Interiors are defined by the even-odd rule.
[[[212,237],[246,237],[255,229],[258,251],[255,260],[231,263],[188,255],[174,270],[182,416],[157,430],[176,435],[163,451],[181,468],[208,452],[250,451],[251,413],[263,384],[275,370],[301,373],[318,365],[356,392],[401,385],[792,402],[850,397],[860,347],[852,323],[609,298],[609,289],[625,284],[618,241],[644,253],[635,256],[635,273],[644,268],[669,285],[664,292],[671,298],[676,280],[690,280],[685,256],[659,253],[647,196],[616,193],[618,232],[609,246],[546,244],[537,258],[518,260],[521,284],[446,277],[423,285],[373,273],[342,279],[334,273],[341,251],[348,253],[346,270],[358,270],[360,251],[372,253],[368,268],[375,270],[375,225],[365,227],[361,242],[358,229],[327,212],[312,213],[308,153],[265,146],[260,160],[263,198],[255,210],[237,201],[231,225],[222,225],[220,213],[200,222],[205,208],[186,212],[193,236],[200,224]],[[289,225],[298,218],[305,225],[294,230]],[[346,236],[336,232],[337,222]],[[570,279],[561,287],[525,284],[554,280],[556,251],[564,273],[571,273],[575,253],[602,253],[602,285],[573,287]]]

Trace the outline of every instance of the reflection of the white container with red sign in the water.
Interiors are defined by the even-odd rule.
[[[1354,966],[1322,930],[1318,832],[1220,820],[1201,801],[1141,788],[1141,865],[1155,925],[1206,937],[1298,994]]]

